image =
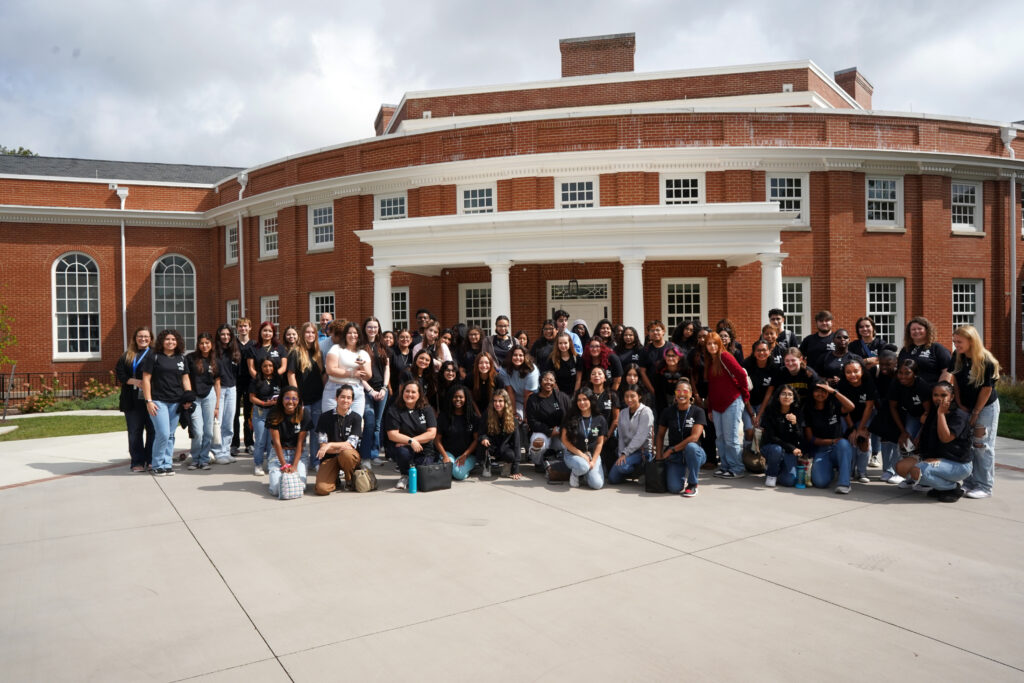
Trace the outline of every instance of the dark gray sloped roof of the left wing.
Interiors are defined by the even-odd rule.
[[[0,155],[0,174],[213,184],[242,168]]]

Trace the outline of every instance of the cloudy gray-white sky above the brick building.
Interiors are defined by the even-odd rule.
[[[2,0],[0,144],[250,166],[369,137],[406,91],[557,78],[559,38],[625,32],[639,72],[811,58],[860,68],[879,110],[1015,121],[1019,6]]]

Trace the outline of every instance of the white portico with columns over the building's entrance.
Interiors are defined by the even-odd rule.
[[[390,328],[391,273],[437,275],[442,268],[490,269],[492,317],[511,312],[516,263],[618,261],[623,323],[644,326],[646,260],[761,261],[762,313],[782,304],[780,230],[795,213],[772,202],[509,211],[374,221],[356,234],[374,250],[374,310]]]

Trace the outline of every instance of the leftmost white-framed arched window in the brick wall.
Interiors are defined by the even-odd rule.
[[[53,262],[53,355],[99,358],[99,268],[85,254]]]

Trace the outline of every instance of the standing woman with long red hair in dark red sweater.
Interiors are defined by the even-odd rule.
[[[743,467],[743,404],[751,390],[746,371],[731,353],[717,332],[708,334],[703,346],[705,380],[708,382],[706,405],[715,424],[720,466],[715,476],[736,479],[746,474]]]

